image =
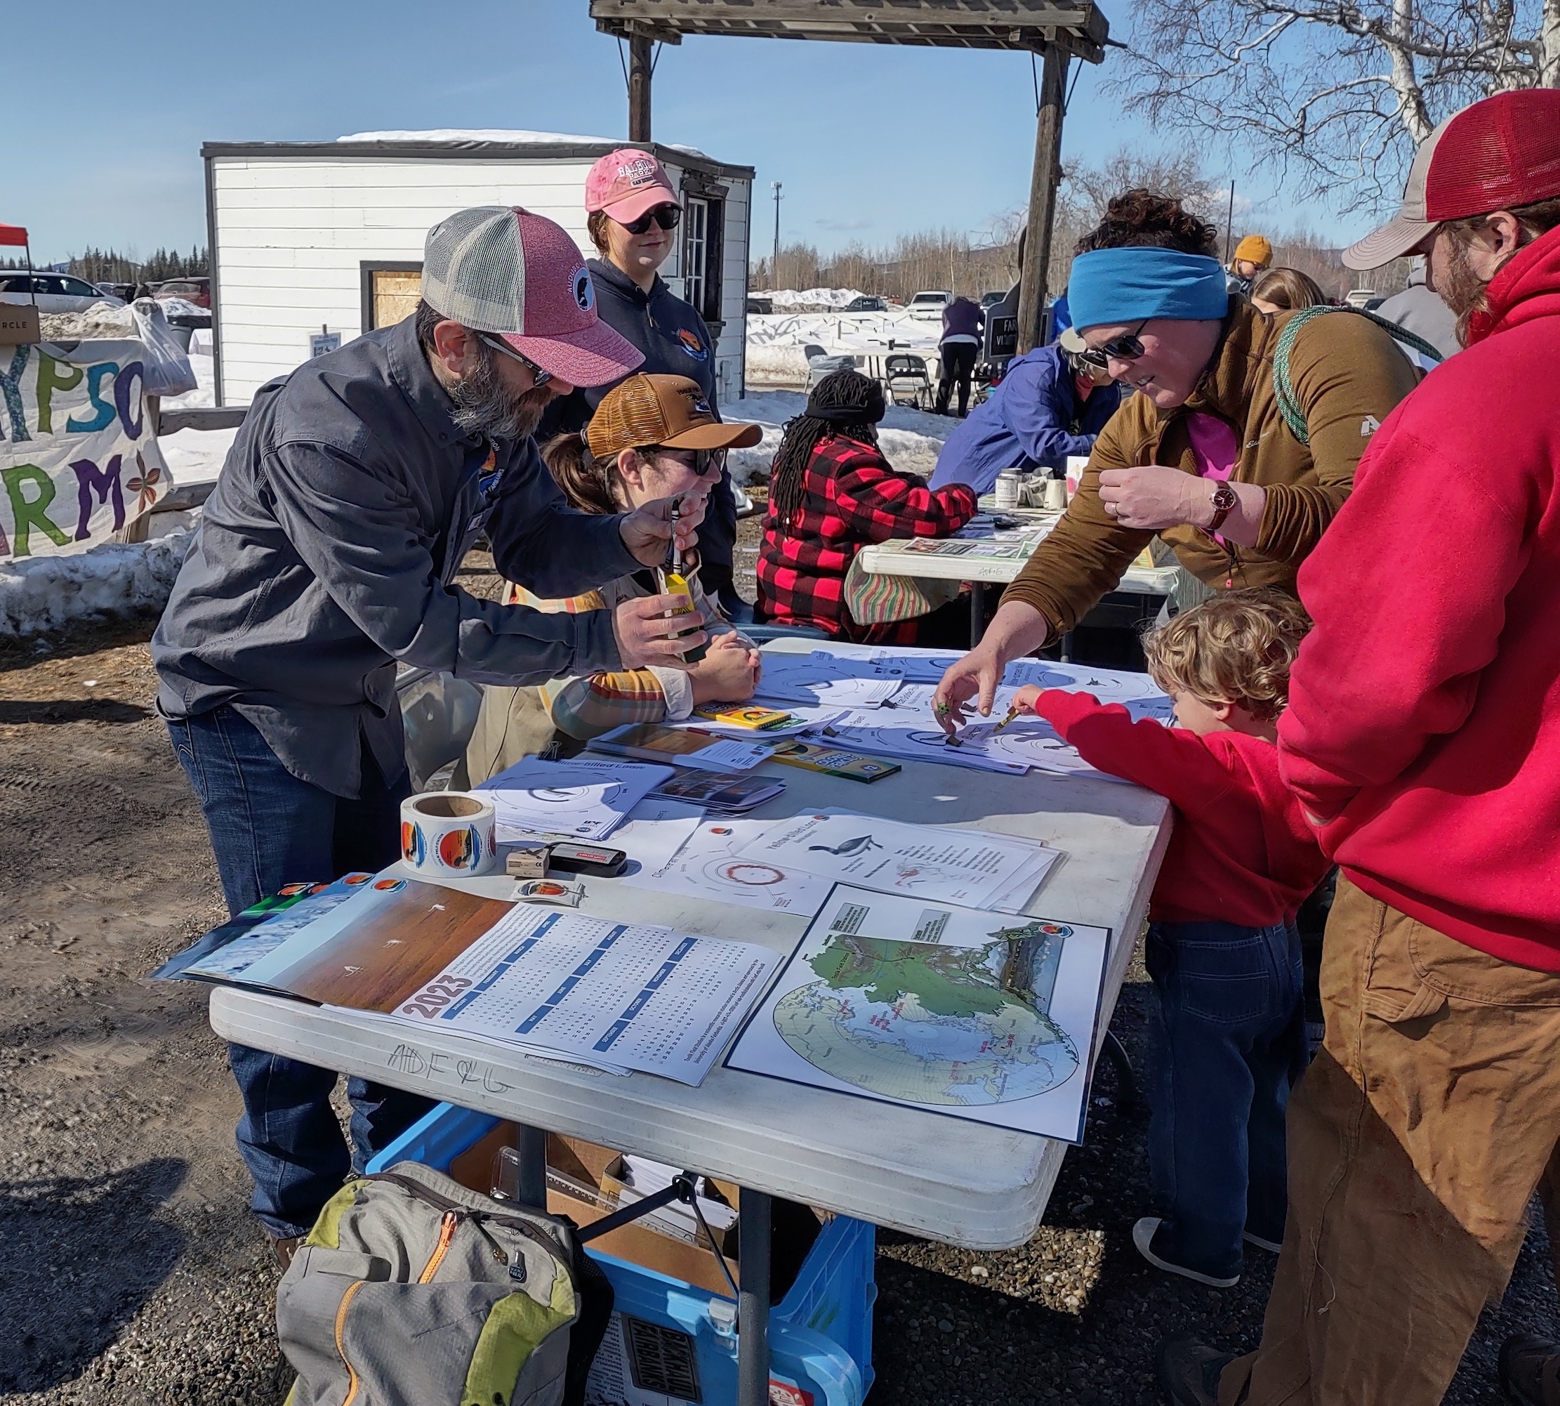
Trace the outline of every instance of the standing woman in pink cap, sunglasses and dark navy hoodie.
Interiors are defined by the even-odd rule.
[[[719,418],[714,395],[714,339],[699,311],[679,298],[657,272],[677,240],[682,206],[666,169],[633,147],[602,156],[585,176],[587,229],[601,253],[588,262],[596,284],[596,312],[643,354],[647,375],[686,376],[697,382]],[[538,437],[583,429],[601,398],[616,385],[580,387],[548,407]],[[736,545],[736,499],[732,474],[721,474],[699,527],[699,584],[732,616],[746,615],[746,602],[732,581]]]

